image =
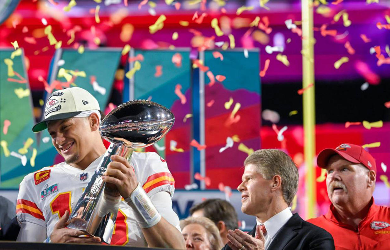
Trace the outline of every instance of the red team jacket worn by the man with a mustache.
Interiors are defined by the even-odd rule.
[[[333,204],[326,215],[308,222],[332,234],[336,250],[390,249],[390,208],[374,204],[373,198],[370,203],[371,208],[357,230],[337,220]]]

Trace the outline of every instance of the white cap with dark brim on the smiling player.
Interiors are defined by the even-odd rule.
[[[51,93],[44,109],[44,119],[32,127],[33,132],[47,129],[47,121],[71,118],[83,111],[100,110],[99,102],[87,90],[73,87]]]

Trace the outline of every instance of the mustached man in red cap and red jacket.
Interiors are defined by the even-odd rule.
[[[374,203],[375,159],[361,146],[326,148],[317,158],[326,169],[332,204],[328,213],[308,222],[332,234],[336,249],[389,249],[390,208]]]

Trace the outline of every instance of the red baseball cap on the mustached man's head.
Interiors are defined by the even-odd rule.
[[[335,154],[340,155],[347,161],[361,163],[368,169],[374,170],[376,173],[376,163],[374,157],[372,157],[372,155],[370,155],[370,153],[361,146],[351,143],[341,144],[336,149],[325,148],[318,154],[317,165],[321,168],[326,168],[329,158]]]

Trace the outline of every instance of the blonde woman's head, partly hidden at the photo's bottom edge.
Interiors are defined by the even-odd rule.
[[[188,217],[180,221],[187,249],[220,250],[222,239],[216,225],[206,217]]]

